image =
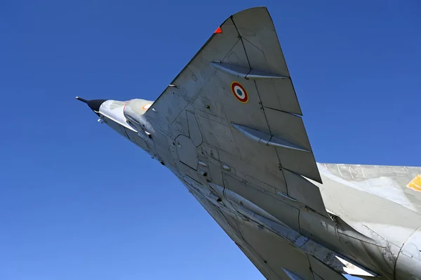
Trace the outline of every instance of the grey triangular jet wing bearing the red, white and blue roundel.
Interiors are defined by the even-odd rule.
[[[297,232],[303,208],[328,217],[319,188],[303,178],[321,182],[301,115],[266,8],[225,20],[145,112],[175,138],[169,149],[178,169],[243,196]],[[260,242],[255,232],[239,231],[246,243]],[[243,251],[257,266],[256,255]],[[273,260],[288,254],[276,252]],[[309,267],[308,258],[297,262]]]

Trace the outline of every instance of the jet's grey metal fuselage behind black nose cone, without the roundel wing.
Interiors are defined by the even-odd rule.
[[[253,183],[253,174],[202,142],[193,112],[187,112],[188,125],[180,135],[145,115],[152,103],[107,100],[100,106],[100,119],[169,168],[250,260],[260,255],[262,260],[253,263],[265,275],[273,270],[266,271],[265,264],[280,258],[273,247],[290,250],[297,259],[310,256],[313,271],[329,267],[361,277],[421,279],[421,192],[406,187],[421,168],[317,164],[323,184],[306,180],[320,189],[329,213],[321,215],[280,192],[260,199],[260,192],[269,192],[247,185],[228,189],[228,180]],[[320,268],[315,275],[340,279],[329,273]]]

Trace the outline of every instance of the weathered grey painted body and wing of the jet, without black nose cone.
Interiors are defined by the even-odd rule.
[[[107,100],[102,121],[169,168],[268,279],[421,279],[421,168],[316,164],[266,8],[221,29],[155,102]]]

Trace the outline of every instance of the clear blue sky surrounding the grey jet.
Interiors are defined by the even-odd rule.
[[[421,4],[1,1],[0,279],[263,279],[175,177],[74,100],[155,100],[267,6],[319,162],[420,166]]]

